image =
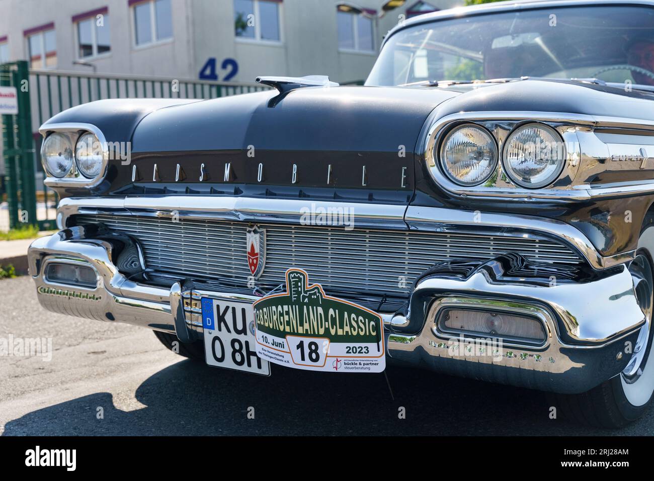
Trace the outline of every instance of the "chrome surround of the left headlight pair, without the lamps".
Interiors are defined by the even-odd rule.
[[[46,173],[46,179],[44,179],[44,184],[47,187],[86,187],[91,188],[99,185],[107,175],[107,168],[109,167],[109,147],[107,146],[107,140],[102,132],[94,126],[93,124],[85,123],[61,123],[61,124],[44,124],[39,129],[41,135],[44,137],[44,141],[41,144],[41,163],[43,164],[44,171]],[[46,161],[44,158],[44,145],[45,139],[48,136],[53,134],[66,135],[71,142],[73,149],[73,166],[69,169],[68,173],[63,177],[56,177],[46,169]],[[77,162],[77,143],[83,135],[93,134],[101,146],[101,164],[98,173],[94,177],[86,177],[80,172]]]

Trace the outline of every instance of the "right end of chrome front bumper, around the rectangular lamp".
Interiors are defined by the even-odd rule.
[[[445,374],[558,393],[588,391],[625,369],[645,322],[626,266],[593,281],[551,286],[508,282],[504,274],[494,260],[467,279],[424,277],[413,291],[409,315],[419,318],[420,329],[403,333],[414,319],[394,319],[389,355]],[[446,334],[438,315],[453,306],[529,313],[542,321],[546,340],[539,346],[503,342],[497,352],[487,338]]]

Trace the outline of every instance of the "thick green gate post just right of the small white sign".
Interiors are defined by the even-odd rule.
[[[14,86],[18,90],[18,150],[20,151],[20,204],[27,212],[27,223],[37,225],[37,190],[34,171],[34,137],[32,109],[29,102],[29,67],[26,60],[16,62]]]

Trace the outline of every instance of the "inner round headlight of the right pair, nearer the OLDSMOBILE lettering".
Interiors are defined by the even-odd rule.
[[[441,144],[443,171],[458,185],[479,185],[495,171],[498,152],[490,132],[481,126],[463,124],[453,128]]]

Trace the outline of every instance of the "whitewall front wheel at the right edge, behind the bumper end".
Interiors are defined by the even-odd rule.
[[[654,393],[654,353],[652,311],[654,304],[654,217],[644,223],[636,258],[628,266],[634,279],[636,298],[645,314],[638,341],[632,346],[628,366],[614,378],[591,391],[578,395],[560,395],[559,405],[567,418],[596,427],[623,427],[640,418],[652,402]]]

